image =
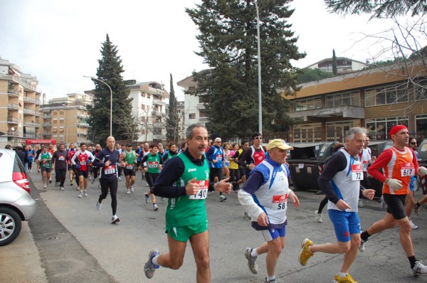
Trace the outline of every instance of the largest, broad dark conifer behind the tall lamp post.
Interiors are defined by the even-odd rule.
[[[290,60],[304,58],[287,19],[288,0],[258,1],[262,73],[263,127],[287,129],[288,101],[281,95],[297,89],[297,69]],[[199,95],[217,136],[247,136],[258,130],[258,58],[253,0],[204,0],[187,14],[199,28],[201,51],[211,67],[194,73]],[[278,91],[280,90],[280,91]]]

